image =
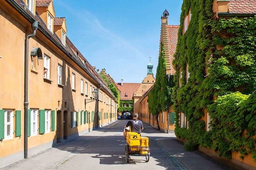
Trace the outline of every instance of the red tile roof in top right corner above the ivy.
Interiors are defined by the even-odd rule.
[[[230,0],[229,13],[256,14],[256,0]]]

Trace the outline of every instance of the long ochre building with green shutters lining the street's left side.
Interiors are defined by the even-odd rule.
[[[116,99],[66,37],[66,19],[55,18],[53,1],[0,4],[0,167],[23,159],[25,151],[31,156],[115,121]],[[35,21],[39,23],[36,35],[28,41],[26,90],[24,44]],[[24,117],[28,118],[27,137]]]

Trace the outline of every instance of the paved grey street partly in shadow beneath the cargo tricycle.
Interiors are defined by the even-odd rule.
[[[130,163],[126,163],[124,152],[126,141],[123,138],[123,127],[126,122],[126,120],[118,120],[2,169],[230,170],[200,152],[186,152],[174,134],[162,133],[145,124],[142,136],[150,139],[150,160],[146,162],[145,156],[130,156]]]

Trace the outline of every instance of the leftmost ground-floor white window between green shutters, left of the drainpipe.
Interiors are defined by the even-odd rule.
[[[13,110],[4,111],[4,139],[13,138]]]

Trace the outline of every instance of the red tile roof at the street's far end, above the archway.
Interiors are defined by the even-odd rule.
[[[132,100],[133,94],[138,90],[141,83],[115,83],[120,90],[120,100]]]

